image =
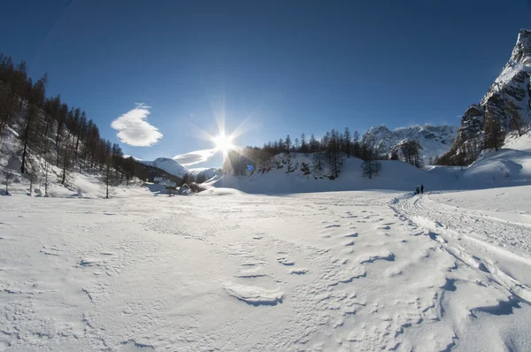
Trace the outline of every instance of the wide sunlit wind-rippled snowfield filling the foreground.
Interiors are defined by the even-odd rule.
[[[530,341],[531,226],[440,195],[11,197],[0,214],[0,351]]]

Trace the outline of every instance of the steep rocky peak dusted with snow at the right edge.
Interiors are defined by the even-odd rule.
[[[514,113],[526,123],[531,121],[531,30],[522,29],[512,55],[480,103],[471,105],[461,118],[461,127],[450,152],[447,165],[467,165],[481,151],[485,114],[491,114],[505,130],[512,130]],[[471,157],[472,155],[472,157]]]

